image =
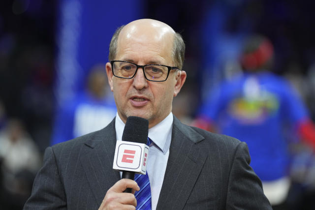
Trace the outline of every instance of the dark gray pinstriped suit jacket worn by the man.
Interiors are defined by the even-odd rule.
[[[115,145],[114,119],[102,130],[47,148],[24,209],[98,209],[120,180],[112,169]],[[249,163],[245,143],[174,116],[157,209],[271,210]]]

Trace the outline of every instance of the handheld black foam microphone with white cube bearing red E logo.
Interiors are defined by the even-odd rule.
[[[122,141],[116,142],[113,163],[113,169],[123,172],[122,179],[133,180],[134,173],[146,174],[148,130],[148,120],[134,116],[127,118]],[[131,188],[125,192],[131,192]]]

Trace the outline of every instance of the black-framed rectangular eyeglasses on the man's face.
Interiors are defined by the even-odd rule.
[[[180,70],[178,67],[171,67],[160,64],[137,65],[132,62],[122,60],[111,60],[112,72],[115,77],[131,79],[136,75],[138,68],[142,68],[144,77],[153,82],[163,82],[167,80],[172,69]]]

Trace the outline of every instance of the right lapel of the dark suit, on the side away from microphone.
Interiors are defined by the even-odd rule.
[[[183,209],[207,158],[204,138],[175,116],[172,141],[157,209]]]

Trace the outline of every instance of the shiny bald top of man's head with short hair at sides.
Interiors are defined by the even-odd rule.
[[[120,27],[112,37],[109,48],[109,60],[115,60],[120,46],[129,41],[143,45],[155,41],[169,47],[174,65],[182,69],[185,43],[181,35],[167,24],[152,19],[140,19]]]

